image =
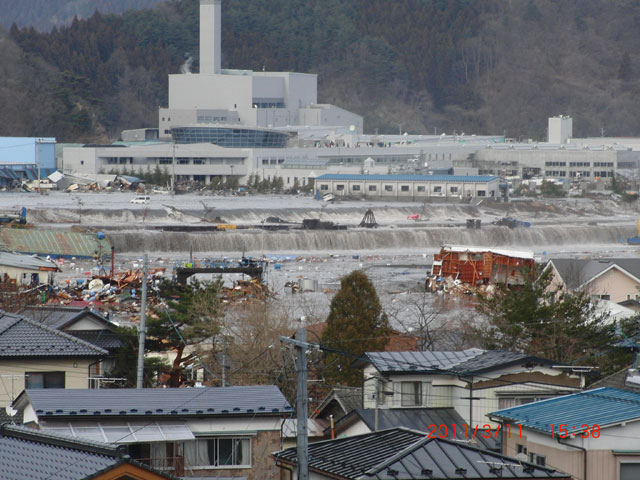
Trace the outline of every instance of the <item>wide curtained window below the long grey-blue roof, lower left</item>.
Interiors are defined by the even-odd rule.
[[[219,437],[185,442],[185,460],[192,467],[251,466],[251,440],[248,438]]]

